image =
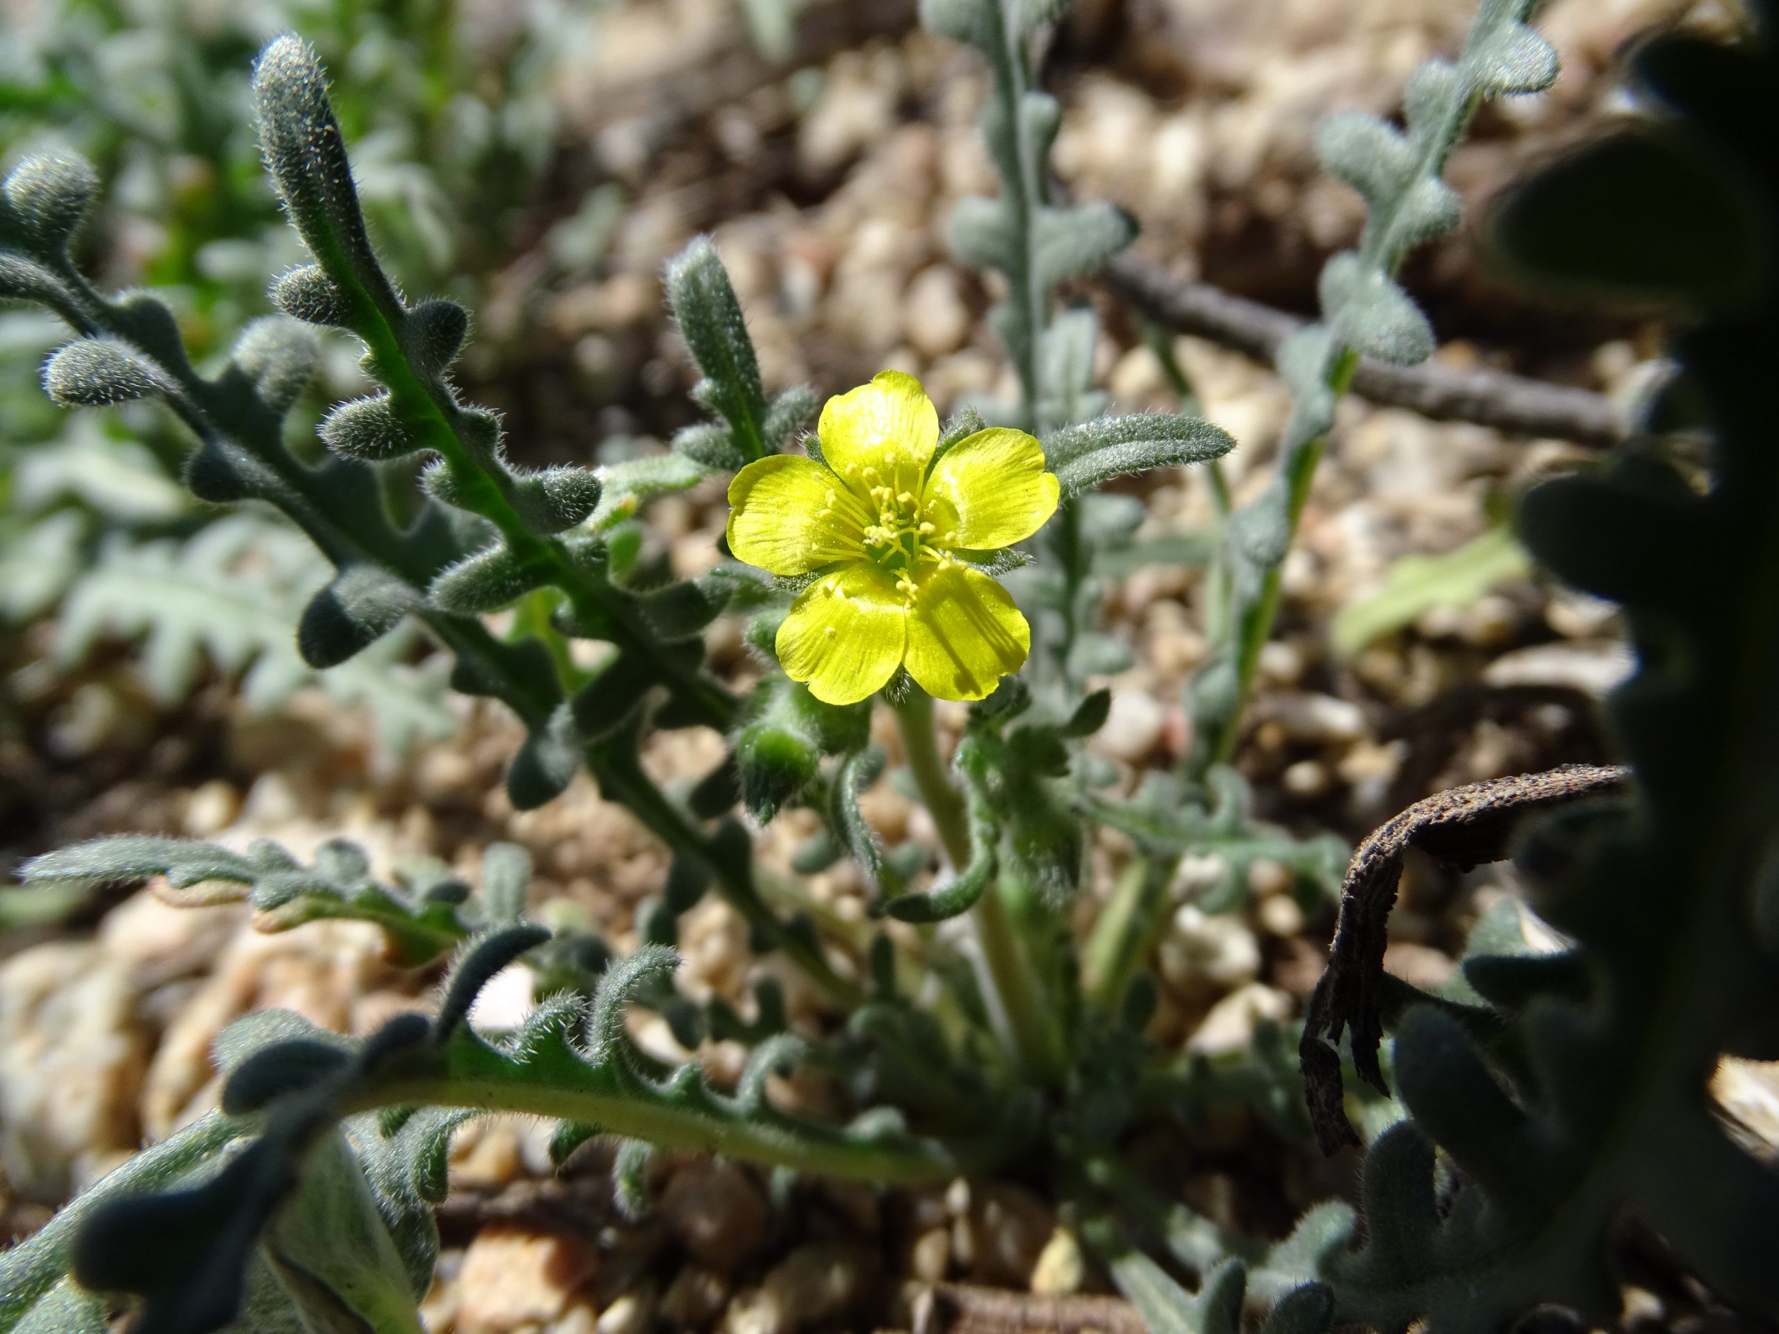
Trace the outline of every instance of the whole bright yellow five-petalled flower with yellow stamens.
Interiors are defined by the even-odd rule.
[[[934,459],[939,414],[895,370],[829,398],[825,466],[777,454],[729,484],[729,550],[813,575],[777,631],[779,663],[829,704],[881,690],[904,663],[939,699],[982,699],[1032,649],[1007,591],[957,559],[1025,541],[1057,512],[1057,475],[1023,430],[991,429]]]

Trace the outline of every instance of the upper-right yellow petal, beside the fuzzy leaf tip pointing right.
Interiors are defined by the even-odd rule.
[[[927,518],[946,546],[994,551],[1042,528],[1057,512],[1059,494],[1037,438],[991,427],[961,439],[932,464]]]

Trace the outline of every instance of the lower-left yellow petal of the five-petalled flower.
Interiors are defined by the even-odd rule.
[[[856,704],[902,665],[907,603],[872,564],[804,589],[777,633],[779,665],[825,704]]]

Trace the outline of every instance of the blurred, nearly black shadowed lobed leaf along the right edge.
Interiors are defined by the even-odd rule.
[[[1726,1135],[1706,1089],[1720,1057],[1779,1051],[1774,941],[1756,928],[1779,804],[1779,14],[1756,9],[1765,41],[1646,46],[1649,119],[1496,212],[1521,274],[1694,315],[1674,356],[1706,407],[1710,482],[1699,493],[1644,439],[1521,507],[1539,562],[1624,608],[1640,667],[1608,711],[1635,799],[1528,834],[1532,907],[1574,948],[1466,960],[1500,1007],[1494,1037],[1429,1005],[1397,1025],[1411,1122],[1372,1145],[1364,1245],[1325,1265],[1340,1316],[1382,1330],[1505,1330],[1541,1304],[1610,1323],[1626,1215],[1751,1318],[1779,1314],[1779,1176]],[[1697,256],[1706,237],[1720,247]]]

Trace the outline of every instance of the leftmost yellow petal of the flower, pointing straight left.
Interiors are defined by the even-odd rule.
[[[840,478],[797,454],[754,459],[729,482],[729,550],[774,575],[861,560],[865,521]]]

